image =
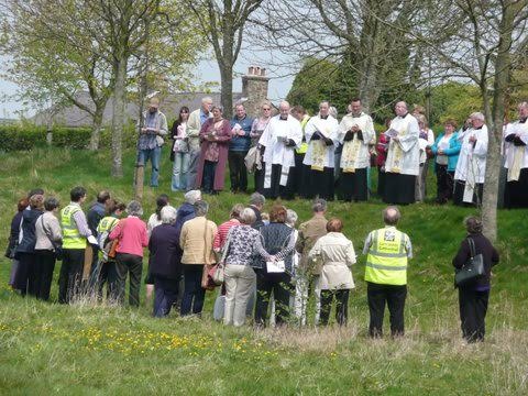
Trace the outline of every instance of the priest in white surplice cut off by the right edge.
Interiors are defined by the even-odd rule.
[[[528,102],[518,107],[519,119],[506,127],[504,148],[508,169],[504,204],[506,208],[528,207]]]

